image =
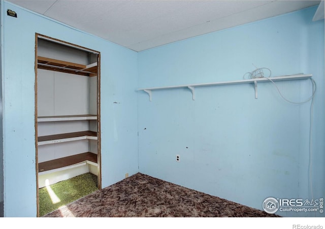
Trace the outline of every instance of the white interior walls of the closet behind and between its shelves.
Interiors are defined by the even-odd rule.
[[[88,65],[97,61],[96,54],[63,46],[50,41],[38,39],[38,56]],[[38,69],[38,117],[64,115],[97,115],[97,76],[83,76],[58,71]],[[60,134],[67,132],[95,131],[96,120],[70,122],[38,122],[38,136]],[[59,144],[41,145],[38,147],[38,162],[49,161],[72,156],[83,152],[98,154],[95,140],[77,140]],[[68,169],[69,170],[69,169]],[[90,170],[97,175],[97,168],[85,165],[70,175],[77,176]],[[69,171],[60,171],[52,176],[51,183],[62,180]],[[67,177],[67,176],[66,176]],[[44,179],[39,176],[39,186],[44,186]]]

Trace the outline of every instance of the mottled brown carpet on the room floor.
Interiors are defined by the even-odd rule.
[[[43,217],[279,216],[138,173]]]

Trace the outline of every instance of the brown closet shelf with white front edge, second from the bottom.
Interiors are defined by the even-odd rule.
[[[75,141],[83,139],[97,140],[97,133],[93,131],[79,131],[73,133],[54,134],[38,137],[38,146],[55,144],[59,142]]]

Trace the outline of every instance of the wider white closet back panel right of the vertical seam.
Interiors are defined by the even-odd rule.
[[[83,115],[88,113],[87,76],[54,72],[54,115]]]

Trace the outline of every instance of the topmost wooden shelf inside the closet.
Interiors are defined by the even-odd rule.
[[[66,72],[84,76],[96,76],[98,71],[97,62],[89,65],[81,65],[67,61],[60,61],[43,56],[37,57],[37,67],[40,69]]]

